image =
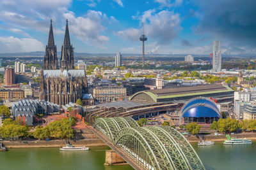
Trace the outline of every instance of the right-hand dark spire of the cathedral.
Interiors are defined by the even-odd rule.
[[[61,70],[74,69],[74,51],[73,50],[74,48],[70,44],[68,20],[67,20],[64,43],[61,46]]]

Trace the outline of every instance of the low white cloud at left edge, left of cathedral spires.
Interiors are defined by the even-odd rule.
[[[41,41],[33,38],[0,37],[0,51],[3,53],[43,51]]]

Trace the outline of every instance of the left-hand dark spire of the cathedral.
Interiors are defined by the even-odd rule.
[[[52,20],[50,25],[48,44],[45,47],[44,69],[58,69],[57,47],[54,45]]]

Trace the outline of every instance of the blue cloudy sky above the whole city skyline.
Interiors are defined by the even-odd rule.
[[[44,51],[52,18],[57,50],[65,20],[75,52],[256,53],[255,0],[0,0],[0,53]]]

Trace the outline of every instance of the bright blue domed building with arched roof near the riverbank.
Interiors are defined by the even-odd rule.
[[[184,104],[180,110],[180,117],[182,124],[212,124],[221,118],[221,113],[214,101],[205,97],[195,97]]]

